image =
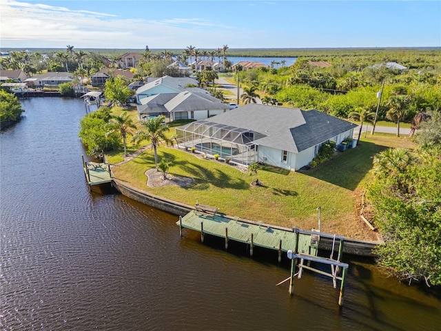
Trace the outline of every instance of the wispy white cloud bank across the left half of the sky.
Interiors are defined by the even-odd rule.
[[[3,48],[64,48],[68,44],[76,48],[143,48],[146,44],[185,48],[187,43],[217,48],[214,42],[224,41],[225,34],[233,31],[200,18],[123,19],[103,12],[13,0],[2,0],[0,12]]]

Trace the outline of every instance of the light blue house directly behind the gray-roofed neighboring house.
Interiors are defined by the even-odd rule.
[[[161,93],[179,93],[187,90],[186,86],[198,86],[198,81],[189,77],[170,77],[164,76],[151,81],[147,80],[144,86],[136,90],[136,103],[141,105],[141,100]]]

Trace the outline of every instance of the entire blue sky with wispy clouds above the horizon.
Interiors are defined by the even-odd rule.
[[[0,0],[5,48],[441,47],[441,1]]]

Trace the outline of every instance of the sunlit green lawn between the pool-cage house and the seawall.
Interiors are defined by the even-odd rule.
[[[254,177],[237,166],[199,154],[161,147],[159,159],[172,161],[170,173],[192,177],[187,188],[147,187],[144,172],[154,167],[149,149],[139,157],[112,169],[114,177],[152,194],[194,205],[214,205],[233,217],[264,221],[274,225],[317,228],[316,208],[322,208],[322,230],[351,238],[375,239],[358,217],[357,206],[369,181],[372,157],[387,147],[413,148],[407,137],[376,134],[362,139],[360,146],[338,153],[334,159],[306,172],[289,172],[263,167],[258,179],[263,187],[254,188]]]

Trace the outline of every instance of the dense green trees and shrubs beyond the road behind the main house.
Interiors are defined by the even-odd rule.
[[[418,112],[441,111],[441,57],[433,57],[432,52],[417,54],[316,54],[298,59],[291,67],[258,68],[238,74],[245,86],[260,90],[261,98],[275,98],[285,106],[314,108],[344,119],[354,111],[375,114],[379,106],[378,119],[394,121],[399,128],[401,121],[410,122]],[[327,61],[331,66],[314,66],[309,60]],[[409,69],[375,66],[391,61]],[[379,105],[377,92],[383,82]]]

